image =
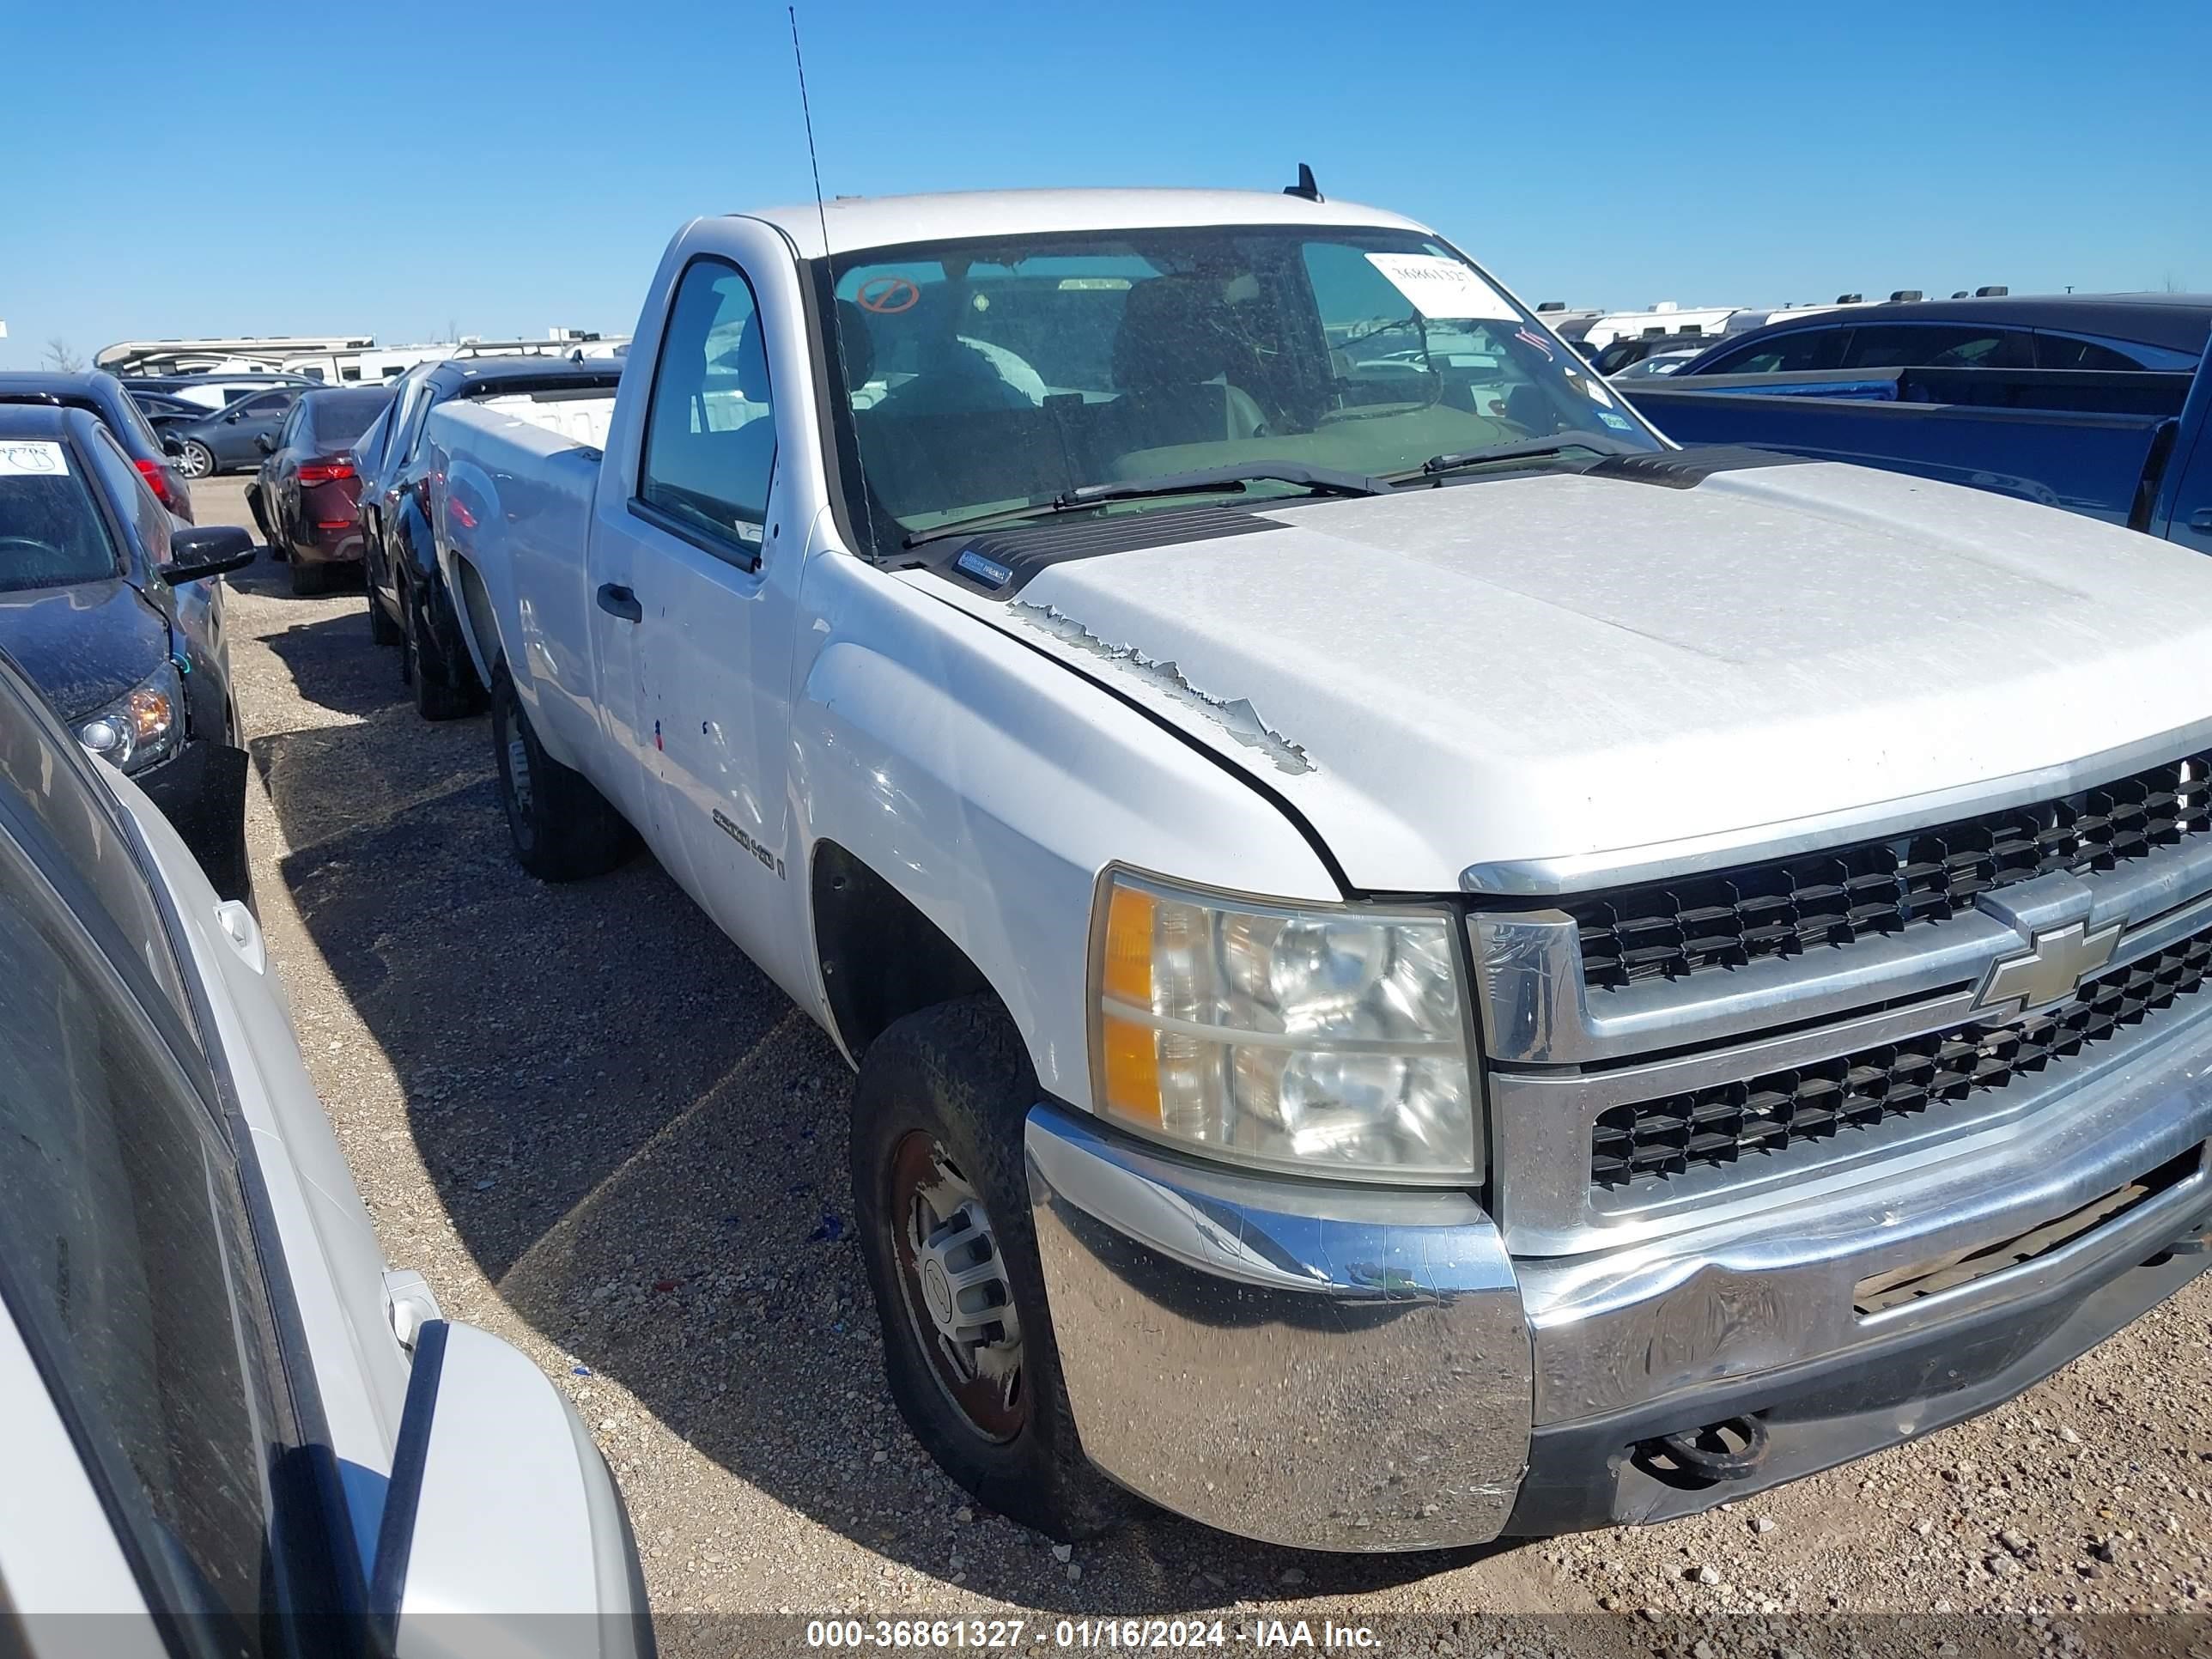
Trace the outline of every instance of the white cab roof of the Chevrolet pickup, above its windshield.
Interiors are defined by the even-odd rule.
[[[896,248],[909,241],[1029,234],[1040,230],[1150,230],[1161,226],[1391,226],[1429,230],[1358,201],[1310,201],[1267,190],[947,190],[914,197],[838,197],[761,208],[801,259]],[[825,241],[827,230],[827,241]]]

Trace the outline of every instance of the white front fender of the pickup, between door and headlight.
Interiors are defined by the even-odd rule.
[[[1241,776],[1044,653],[843,553],[814,560],[805,597],[821,648],[794,706],[792,812],[807,854],[843,845],[951,938],[1051,1095],[1091,1102],[1091,905],[1108,865],[1343,896]]]

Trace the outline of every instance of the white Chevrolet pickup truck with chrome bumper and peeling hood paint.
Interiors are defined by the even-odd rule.
[[[699,219],[604,451],[427,431],[518,858],[641,836],[854,1062],[998,1511],[1666,1517],[2205,1263],[2197,555],[1674,449],[1296,192]]]

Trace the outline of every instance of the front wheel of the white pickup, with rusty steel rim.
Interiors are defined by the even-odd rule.
[[[883,1369],[914,1438],[989,1509],[1075,1542],[1126,1522],[1135,1500],[1075,1438],[1029,1221],[1035,1102],[995,1000],[909,1013],[860,1062],[852,1192]]]

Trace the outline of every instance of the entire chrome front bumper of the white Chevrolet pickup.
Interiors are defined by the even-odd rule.
[[[1573,1259],[1511,1259],[1464,1192],[1239,1175],[1040,1106],[1031,1208],[1084,1451],[1230,1533],[1407,1551],[1686,1513],[1955,1422],[2212,1263],[2208,1015],[1911,1168]],[[2161,1166],[2046,1254],[1856,1312],[1874,1274]],[[1635,1455],[1736,1416],[1770,1431],[1750,1478],[1692,1491]]]

